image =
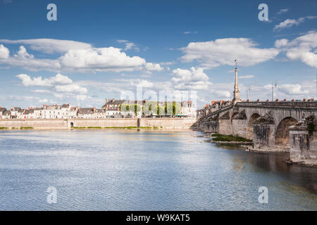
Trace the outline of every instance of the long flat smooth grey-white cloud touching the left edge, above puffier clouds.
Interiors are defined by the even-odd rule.
[[[0,42],[7,44],[25,44],[30,48],[44,53],[64,53],[70,49],[91,49],[91,44],[80,41],[58,40],[58,39],[21,39],[8,40],[0,39]]]

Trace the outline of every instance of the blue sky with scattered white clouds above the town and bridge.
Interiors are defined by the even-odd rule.
[[[272,84],[274,99],[316,98],[317,1],[0,0],[2,107],[169,93],[201,108],[232,98],[235,59],[242,101]]]

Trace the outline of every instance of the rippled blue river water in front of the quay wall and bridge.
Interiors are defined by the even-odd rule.
[[[287,157],[191,130],[0,131],[0,210],[317,210],[317,169]]]

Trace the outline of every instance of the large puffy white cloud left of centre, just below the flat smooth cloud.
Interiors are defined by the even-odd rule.
[[[120,49],[108,47],[99,49],[70,50],[58,58],[61,65],[73,70],[132,71],[140,70],[146,61],[139,56],[127,56]]]

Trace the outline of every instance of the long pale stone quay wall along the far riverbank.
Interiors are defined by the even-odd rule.
[[[0,120],[1,129],[71,129],[72,127],[157,127],[189,129],[195,118],[108,118],[108,119],[8,119]]]

